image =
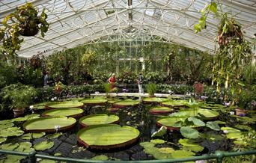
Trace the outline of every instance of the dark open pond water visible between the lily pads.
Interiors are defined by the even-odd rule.
[[[55,138],[52,141],[55,141],[54,147],[49,150],[45,150],[42,153],[45,155],[54,155],[55,153],[61,153],[61,156],[71,157],[75,159],[91,159],[94,156],[98,155],[106,155],[110,159],[121,159],[121,160],[145,160],[145,159],[154,159],[153,156],[147,155],[144,153],[143,147],[139,145],[140,142],[150,141],[150,135],[157,130],[156,127],[156,116],[150,114],[149,109],[156,107],[156,105],[139,105],[138,107],[129,107],[129,108],[120,108],[115,113],[110,113],[106,111],[106,108],[109,106],[94,106],[94,107],[86,107],[85,106],[85,115],[88,114],[116,114],[120,117],[120,125],[128,125],[134,126],[140,132],[140,138],[138,142],[132,144],[129,147],[120,148],[118,150],[112,151],[95,151],[90,149],[83,150],[79,148],[79,145],[76,142],[76,133],[79,131],[79,124],[76,124],[76,127],[73,129],[64,132],[63,135],[59,138]],[[41,111],[37,111],[38,114]],[[221,114],[219,117],[220,120],[225,117],[225,114]],[[22,123],[20,123],[21,125]],[[221,132],[212,131],[210,129],[201,129],[199,132],[211,132],[213,135],[220,135]],[[177,141],[183,138],[179,132],[168,132],[168,134],[163,138],[165,141],[172,142],[177,144]],[[36,144],[37,142],[43,141],[46,138],[37,138],[36,140],[31,140],[32,144]],[[16,138],[13,141],[24,141],[20,138]],[[233,146],[232,142],[223,139],[222,141],[207,141],[202,139],[199,144],[204,147],[204,150],[201,153],[197,153],[197,155],[214,153],[216,150],[231,150]],[[172,147],[174,149],[179,149],[179,145],[173,144],[158,144],[157,147]]]

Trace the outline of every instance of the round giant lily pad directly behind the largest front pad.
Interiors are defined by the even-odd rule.
[[[101,125],[109,123],[118,123],[119,117],[116,115],[108,114],[92,114],[80,118],[79,123],[83,126]]]

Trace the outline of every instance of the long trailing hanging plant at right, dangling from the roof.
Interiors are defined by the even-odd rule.
[[[195,32],[207,28],[206,19],[212,12],[216,18],[220,18],[218,26],[219,49],[213,61],[213,83],[216,84],[217,92],[225,86],[225,92],[231,90],[232,103],[236,104],[241,90],[245,84],[241,81],[243,67],[252,63],[252,45],[243,37],[242,25],[229,13],[219,12],[217,4],[211,2],[205,10],[202,10],[201,19],[194,25]],[[225,99],[227,96],[225,96]]]

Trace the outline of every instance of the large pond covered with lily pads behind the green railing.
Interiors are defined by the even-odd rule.
[[[94,102],[94,99],[99,99],[100,102]],[[151,101],[150,99],[144,99],[144,102],[139,102],[138,97],[115,97],[108,99],[108,101],[105,101],[103,97],[95,97],[94,99],[82,99],[84,102],[90,102],[90,104],[88,103],[83,107],[77,105],[79,103],[76,103],[76,107],[80,107],[77,109],[79,111],[78,116],[75,116],[77,119],[76,123],[73,123],[71,118],[66,118],[63,121],[61,119],[63,117],[55,117],[52,121],[46,119],[47,122],[43,123],[43,126],[46,126],[46,123],[58,122],[60,124],[59,126],[55,126],[53,130],[37,131],[31,129],[32,132],[37,132],[31,134],[29,127],[34,126],[29,125],[31,125],[31,122],[37,122],[37,118],[41,114],[57,114],[60,116],[62,113],[61,109],[58,109],[58,103],[47,104],[48,108],[50,108],[50,106],[57,108],[53,113],[51,113],[52,109],[48,111],[41,109],[44,108],[45,104],[43,103],[34,105],[34,114],[28,114],[25,117],[18,117],[12,120],[1,120],[1,149],[22,152],[29,152],[35,149],[41,154],[75,159],[175,159],[189,156],[201,156],[214,153],[216,150],[231,151],[234,147],[237,147],[237,144],[240,147],[248,147],[249,144],[246,144],[246,141],[244,141],[243,134],[255,130],[256,120],[253,118],[232,115],[232,113],[230,113],[231,108],[225,108],[223,105],[215,105],[213,103],[189,102],[189,100],[183,99],[174,100],[163,98],[152,98]],[[77,102],[76,100],[82,102],[81,99],[69,99],[69,101],[73,102]],[[62,109],[67,110],[67,108],[64,108],[67,103],[61,103]],[[119,108],[112,108],[113,103],[114,106],[119,106]],[[161,104],[165,106],[160,107]],[[70,107],[69,104],[67,106]],[[83,114],[81,114],[81,108],[84,110]],[[152,109],[155,110],[153,111]],[[209,109],[213,112],[209,112]],[[70,111],[69,114],[71,114],[73,110]],[[174,113],[171,114],[170,111],[174,111]],[[216,113],[217,115],[215,116]],[[99,114],[103,117],[100,117],[101,120],[99,120],[99,118],[89,120],[89,122],[87,120],[86,124],[89,128],[85,124],[82,125],[81,122],[85,122],[86,118],[91,118],[94,114]],[[112,122],[106,122],[104,118],[106,118],[107,115],[103,114],[115,116],[112,116]],[[88,117],[81,118],[82,116]],[[81,118],[80,123],[78,123],[79,118]],[[109,116],[107,116],[107,118],[109,118]],[[68,120],[70,120],[70,123],[68,123]],[[115,123],[120,126],[131,126],[132,129],[138,129],[138,138],[134,138],[133,141],[124,144],[124,146],[85,147],[85,144],[78,142],[77,133],[83,127],[84,130],[90,129],[91,123],[97,123],[97,120],[99,120],[98,123],[104,121],[105,123]],[[174,123],[172,124],[173,120]],[[67,126],[71,127],[69,129],[61,128],[61,125],[66,125],[66,123],[68,123]],[[38,126],[40,125],[35,125],[36,128],[38,128]],[[109,126],[117,127],[117,125]],[[20,127],[20,129],[18,127]],[[159,131],[160,127],[161,131]],[[27,133],[23,133],[22,129],[26,130]],[[64,130],[59,131],[61,129]],[[97,132],[93,132],[92,138],[98,138],[97,136],[103,135],[103,131],[104,129],[100,129],[98,134],[96,134]],[[132,135],[132,132],[124,133],[125,135],[123,135],[123,137],[121,135],[118,141]],[[109,137],[112,138],[112,135],[113,133],[109,133]],[[106,138],[107,137],[108,135]],[[4,162],[4,159],[5,161],[12,160],[13,162],[19,162],[19,160],[22,160],[22,162],[26,161],[22,156],[6,157],[1,155],[1,159],[0,162]],[[41,160],[40,162],[45,162],[45,160]]]

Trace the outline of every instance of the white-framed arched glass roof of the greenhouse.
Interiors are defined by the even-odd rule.
[[[50,55],[56,50],[86,43],[115,40],[147,40],[175,43],[192,49],[214,52],[218,20],[209,15],[207,29],[195,34],[193,26],[210,0],[26,0],[41,11],[46,8],[49,31],[24,37],[18,52],[29,58],[38,52]],[[220,1],[242,25],[249,41],[256,33],[255,0]],[[25,0],[1,0],[0,21]]]

